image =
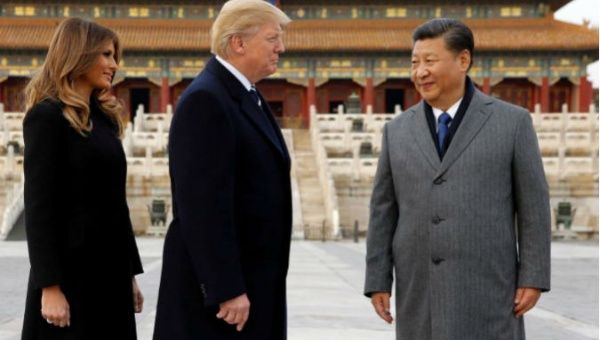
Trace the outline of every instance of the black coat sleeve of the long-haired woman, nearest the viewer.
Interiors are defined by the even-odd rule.
[[[58,105],[40,103],[23,120],[25,141],[25,231],[36,288],[61,282],[64,233],[56,211],[61,203],[61,152],[66,120]]]

